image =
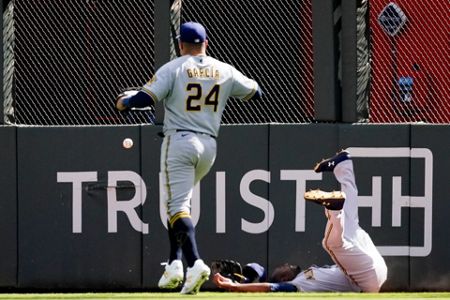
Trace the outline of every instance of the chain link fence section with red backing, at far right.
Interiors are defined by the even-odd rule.
[[[450,123],[450,2],[370,1],[370,121]]]

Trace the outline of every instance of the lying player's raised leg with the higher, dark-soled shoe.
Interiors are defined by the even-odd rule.
[[[328,221],[322,245],[363,291],[376,292],[386,279],[386,268],[370,237],[358,224],[358,191],[350,155],[340,152],[319,163],[317,169],[333,171],[345,194],[341,210],[326,210]]]

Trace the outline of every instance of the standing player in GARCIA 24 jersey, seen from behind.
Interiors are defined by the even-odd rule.
[[[161,146],[163,197],[167,206],[170,255],[158,286],[195,294],[209,278],[200,258],[191,221],[194,186],[208,173],[216,158],[216,138],[230,96],[243,101],[259,99],[256,81],[229,64],[206,55],[205,28],[194,22],[180,27],[181,57],[162,66],[134,96],[119,95],[116,107],[146,107],[164,103],[164,140]],[[187,262],[186,278],[182,255]]]

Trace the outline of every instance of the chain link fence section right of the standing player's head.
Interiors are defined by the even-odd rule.
[[[257,80],[264,101],[231,101],[223,122],[313,120],[310,1],[183,0],[182,22],[208,28],[209,53]]]

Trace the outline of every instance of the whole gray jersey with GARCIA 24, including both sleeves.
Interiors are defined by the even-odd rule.
[[[177,129],[218,136],[228,98],[249,100],[258,89],[233,66],[210,56],[184,55],[162,66],[143,91],[163,101],[164,133]]]

